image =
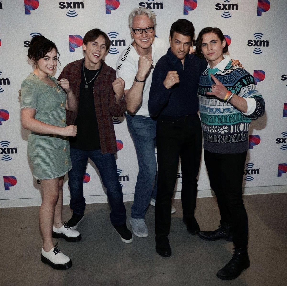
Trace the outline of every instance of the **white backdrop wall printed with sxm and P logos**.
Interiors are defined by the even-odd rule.
[[[246,161],[245,194],[287,189],[287,1],[285,0],[0,0],[0,206],[39,205],[40,185],[27,158],[29,132],[21,128],[18,91],[32,71],[27,61],[31,37],[42,34],[56,43],[60,62],[56,77],[68,63],[83,57],[82,39],[100,28],[111,40],[106,63],[116,69],[119,54],[131,42],[128,15],[135,7],[156,13],[156,35],[168,41],[171,24],[193,22],[195,36],[218,27],[230,43],[230,56],[253,75],[265,99],[262,118],[251,123]],[[124,199],[132,200],[138,172],[133,142],[124,116],[114,118],[117,166]],[[49,159],[49,158],[47,158]],[[190,163],[192,164],[192,162]],[[232,168],[232,166],[226,166]],[[180,196],[179,168],[176,197]],[[286,190],[287,191],[287,190]],[[105,190],[93,163],[84,177],[88,203],[105,202]],[[212,194],[202,160],[198,196]],[[69,203],[67,179],[64,203]]]

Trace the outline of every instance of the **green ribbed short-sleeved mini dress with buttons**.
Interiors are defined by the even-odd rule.
[[[30,73],[21,84],[21,109],[36,109],[35,119],[47,124],[66,127],[65,102],[67,95],[56,83],[51,87]],[[28,156],[33,176],[38,180],[63,176],[71,170],[69,137],[31,132],[28,137]]]

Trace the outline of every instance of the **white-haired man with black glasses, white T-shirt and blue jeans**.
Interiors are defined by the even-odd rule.
[[[148,228],[144,218],[151,199],[155,203],[157,173],[156,121],[148,112],[148,97],[153,66],[169,45],[155,38],[156,15],[148,9],[133,9],[129,15],[129,28],[133,41],[117,61],[117,76],[125,81],[127,126],[139,164],[130,223],[136,236],[146,237]]]

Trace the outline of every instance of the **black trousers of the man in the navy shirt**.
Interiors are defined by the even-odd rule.
[[[200,166],[202,131],[197,114],[172,118],[160,116],[156,126],[158,190],[155,207],[156,235],[167,236],[170,230],[170,209],[181,158],[181,203],[183,215],[194,218],[197,196],[197,175]]]

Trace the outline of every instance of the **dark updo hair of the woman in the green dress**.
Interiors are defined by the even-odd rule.
[[[44,36],[34,36],[31,40],[30,47],[28,49],[28,58],[35,62],[46,56],[48,52],[51,52],[53,48],[56,50],[59,61],[58,49],[52,41],[46,39]]]

